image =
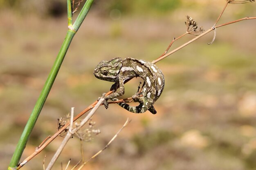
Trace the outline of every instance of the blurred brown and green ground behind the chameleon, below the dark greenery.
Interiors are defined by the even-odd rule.
[[[56,131],[57,118],[71,107],[79,113],[107,92],[112,83],[92,74],[103,59],[133,57],[152,61],[173,37],[185,32],[185,16],[210,28],[224,0],[179,1],[165,13],[135,9],[99,12],[92,8],[74,37],[22,159]],[[141,0],[138,1],[142,2]],[[230,5],[220,20],[256,15],[256,4]],[[136,5],[135,5],[136,6]],[[170,6],[171,8],[171,6]],[[133,13],[134,12],[134,13]],[[0,12],[0,169],[8,166],[22,129],[67,31],[66,16]],[[93,121],[101,134],[84,143],[85,159],[103,148],[126,118],[132,122],[111,146],[91,161],[93,170],[252,170],[256,168],[256,22],[243,21],[217,29],[157,63],[166,78],[156,115],[132,114],[118,105],[101,107]],[[187,36],[171,49],[190,40]],[[131,96],[138,82],[126,84]],[[43,169],[62,141],[56,139],[24,170]],[[79,139],[71,139],[54,169],[81,159]]]

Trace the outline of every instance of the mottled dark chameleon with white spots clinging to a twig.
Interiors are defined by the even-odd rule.
[[[108,99],[117,101],[119,100],[117,97],[124,94],[124,81],[141,77],[144,80],[141,91],[132,96],[133,101],[139,102],[139,105],[130,106],[125,102],[117,104],[132,113],[144,113],[147,110],[153,114],[157,113],[153,104],[164,89],[164,74],[155,64],[141,59],[122,60],[117,57],[109,61],[101,61],[94,69],[94,76],[101,80],[115,82],[110,88],[112,94],[108,96],[105,96],[106,93],[102,94],[106,109],[108,109]],[[119,91],[117,91],[118,87]]]

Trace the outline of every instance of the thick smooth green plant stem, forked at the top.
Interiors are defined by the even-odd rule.
[[[67,0],[68,1],[68,0]],[[36,124],[36,120],[43,108],[43,105],[45,104],[45,100],[52,88],[52,85],[54,83],[54,80],[58,74],[59,69],[61,68],[61,64],[63,62],[63,59],[65,58],[65,54],[70,46],[70,43],[76,34],[77,30],[81,26],[84,18],[86,17],[92,3],[94,0],[87,0],[83,6],[83,9],[81,13],[79,14],[79,17],[76,19],[76,26],[74,27],[75,29],[72,29],[69,27],[69,30],[67,31],[67,35],[65,37],[65,40],[61,46],[61,49],[56,57],[56,60],[54,62],[54,65],[52,67],[51,72],[49,73],[49,76],[45,82],[45,85],[42,89],[42,92],[36,102],[36,105],[34,106],[34,109],[29,117],[29,120],[27,121],[27,124],[22,132],[22,135],[20,136],[19,142],[16,146],[16,150],[13,153],[13,157],[11,158],[11,162],[9,164],[8,169],[15,169],[18,166],[18,163],[20,161],[20,157],[25,149],[25,146],[27,144],[27,141],[29,139],[29,136],[31,134],[32,129],[34,128],[34,125]],[[67,7],[68,7],[68,17],[70,16],[70,7],[71,4],[67,2]],[[72,22],[72,20],[71,20]],[[70,20],[68,19],[68,24],[70,24]]]

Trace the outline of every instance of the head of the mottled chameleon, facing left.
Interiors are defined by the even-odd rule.
[[[117,76],[122,67],[122,59],[114,58],[110,61],[101,61],[94,69],[94,76],[106,81],[117,81]]]

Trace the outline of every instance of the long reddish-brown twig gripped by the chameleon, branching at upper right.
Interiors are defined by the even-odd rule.
[[[255,0],[240,0],[240,1],[238,1],[238,0],[227,0],[227,3],[225,4],[225,7],[222,9],[222,11],[221,11],[221,13],[220,13],[218,19],[216,20],[216,22],[215,22],[215,24],[213,25],[212,28],[209,28],[207,31],[201,33],[200,35],[196,35],[196,37],[194,37],[194,38],[191,39],[190,41],[184,43],[183,45],[181,45],[181,46],[179,46],[179,47],[177,47],[177,48],[175,48],[175,49],[172,50],[171,52],[168,52],[168,50],[170,49],[170,47],[171,47],[171,45],[173,44],[174,41],[176,41],[177,39],[180,39],[180,38],[184,37],[184,36],[187,35],[187,34],[192,34],[192,35],[194,35],[194,33],[192,33],[192,32],[197,32],[197,31],[194,31],[193,28],[195,28],[195,27],[193,26],[193,23],[191,23],[191,24],[192,24],[191,26],[193,26],[193,27],[192,27],[192,30],[191,30],[191,27],[190,27],[190,29],[188,29],[188,27],[187,27],[186,33],[184,33],[183,35],[181,35],[180,37],[178,37],[178,38],[176,38],[176,39],[174,38],[173,41],[171,41],[171,44],[169,44],[169,46],[168,46],[168,48],[166,49],[166,51],[165,51],[160,57],[158,57],[156,60],[152,61],[152,63],[155,64],[155,63],[157,63],[158,61],[161,61],[162,59],[164,59],[164,58],[170,56],[170,55],[173,54],[174,52],[177,52],[178,50],[180,50],[180,49],[184,48],[185,46],[191,44],[193,41],[199,39],[200,37],[202,37],[202,36],[204,36],[204,35],[210,33],[211,31],[213,31],[213,30],[216,31],[216,28],[219,28],[219,27],[222,27],[222,26],[226,26],[226,25],[229,25],[229,24],[233,24],[233,23],[236,23],[236,22],[240,22],[240,21],[243,21],[243,20],[254,20],[254,19],[256,19],[256,17],[244,17],[244,18],[241,18],[241,19],[239,19],[239,20],[234,20],[234,21],[227,22],[227,23],[220,24],[220,25],[216,26],[216,24],[217,24],[218,21],[220,20],[220,17],[221,17],[222,14],[224,13],[224,11],[225,11],[225,9],[226,9],[226,7],[227,7],[228,4],[241,4],[241,3],[254,2],[254,1],[255,1]],[[74,0],[73,0],[73,2],[74,2]],[[192,31],[192,32],[189,32],[189,31]],[[197,33],[198,33],[198,32],[197,32]],[[215,33],[215,34],[216,34],[216,33]],[[214,41],[215,37],[216,37],[216,36],[213,37],[212,42]],[[212,43],[212,42],[211,42],[211,43]],[[211,44],[211,43],[209,43],[209,44]],[[126,82],[128,82],[128,81],[129,81],[129,80],[127,80]],[[126,82],[125,82],[125,83],[126,83]],[[109,94],[111,94],[111,93],[112,93],[112,91],[107,92],[107,93],[106,93],[106,96],[109,95]],[[128,100],[128,99],[131,99],[131,98],[127,98],[127,100]],[[115,101],[115,102],[109,102],[109,104],[116,103],[116,102],[125,102],[125,100],[126,100],[126,99],[118,100],[118,101]],[[74,117],[74,121],[76,121],[76,120],[77,120],[78,118],[80,118],[84,113],[88,112],[90,109],[93,109],[93,108],[95,107],[95,105],[97,104],[97,102],[98,102],[97,100],[94,101],[89,107],[87,107],[85,110],[81,111],[81,113],[79,113],[76,117]],[[33,157],[35,157],[38,153],[40,153],[50,142],[52,142],[58,135],[60,135],[63,131],[65,131],[65,129],[67,129],[67,127],[69,126],[69,124],[70,124],[70,123],[66,123],[61,129],[59,129],[59,131],[58,131],[57,133],[55,133],[54,135],[52,135],[52,137],[50,137],[47,141],[45,141],[44,143],[42,142],[43,144],[42,144],[40,147],[37,147],[36,150],[35,150],[35,152],[32,153],[29,157],[27,157],[24,161],[22,161],[16,169],[18,170],[19,168],[21,168],[22,166],[24,166],[29,160],[31,160]]]

